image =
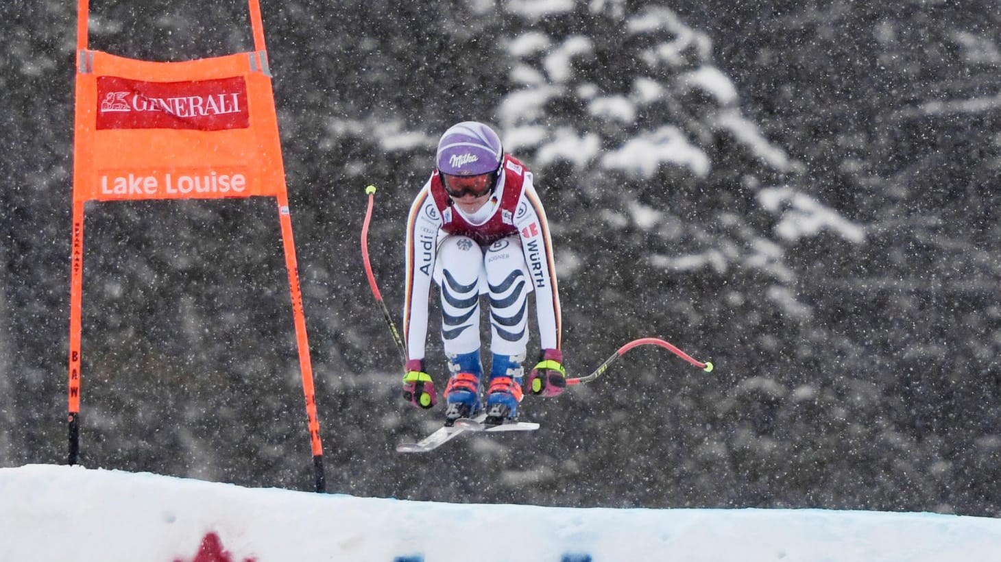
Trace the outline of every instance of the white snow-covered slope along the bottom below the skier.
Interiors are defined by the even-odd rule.
[[[988,561],[1001,520],[930,513],[574,509],[0,468],[0,561]]]

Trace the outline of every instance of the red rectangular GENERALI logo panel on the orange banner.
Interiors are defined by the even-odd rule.
[[[97,77],[98,129],[197,129],[250,126],[243,77],[143,82]]]

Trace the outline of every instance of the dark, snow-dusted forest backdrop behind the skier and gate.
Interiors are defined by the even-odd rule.
[[[90,46],[249,50],[245,4],[205,4],[95,0]],[[1001,8],[867,4],[262,0],[328,489],[1001,514]],[[7,8],[0,466],[63,463],[75,5]],[[539,46],[516,49],[528,34]],[[736,98],[693,85],[706,69]],[[637,101],[641,78],[658,95]],[[536,433],[394,452],[440,411],[399,397],[360,258],[363,188],[379,187],[372,265],[396,313],[406,209],[437,136],[465,119],[523,139],[569,371],[655,336],[713,373],[639,348],[559,399],[527,398]],[[708,166],[611,163],[665,126]],[[560,136],[599,150],[552,150]],[[89,204],[84,266],[81,464],[311,489],[273,201]]]

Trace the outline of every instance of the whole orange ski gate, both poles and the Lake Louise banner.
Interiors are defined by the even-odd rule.
[[[281,160],[271,72],[257,0],[248,0],[254,51],[180,62],[87,48],[88,0],[77,3],[70,278],[69,464],[79,454],[84,203],[274,197],[288,272],[315,470],[322,445]]]

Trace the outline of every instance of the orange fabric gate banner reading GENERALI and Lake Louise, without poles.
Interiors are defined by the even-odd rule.
[[[81,50],[78,200],[277,196],[285,191],[263,52],[162,63]]]

